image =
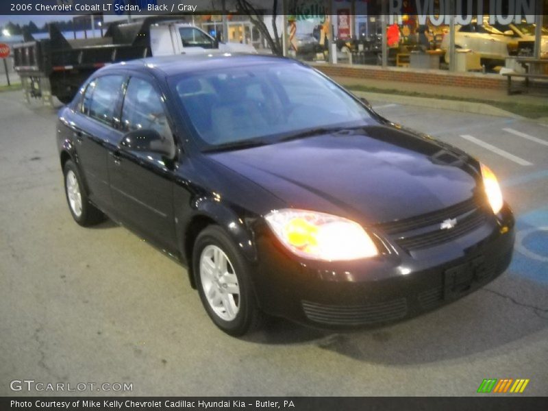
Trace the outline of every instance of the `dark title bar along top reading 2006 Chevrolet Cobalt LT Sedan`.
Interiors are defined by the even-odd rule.
[[[351,3],[367,4],[370,15],[531,16],[543,14],[543,1],[537,0],[247,0],[262,14],[336,14],[337,8]],[[240,14],[237,0],[2,0],[0,14],[27,15],[131,15],[151,14]],[[356,7],[357,9],[359,7]]]

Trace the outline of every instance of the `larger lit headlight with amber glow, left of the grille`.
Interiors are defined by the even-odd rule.
[[[277,238],[290,251],[313,260],[357,260],[378,254],[358,223],[321,212],[284,209],[265,216]]]

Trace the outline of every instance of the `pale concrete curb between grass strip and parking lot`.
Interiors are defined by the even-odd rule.
[[[512,119],[523,120],[525,117],[519,116],[506,110],[502,110],[493,105],[488,105],[486,103],[473,103],[471,101],[457,101],[457,100],[445,100],[445,99],[429,99],[427,97],[412,97],[412,96],[401,96],[395,94],[385,94],[381,92],[366,92],[351,90],[358,97],[365,97],[371,101],[384,101],[386,103],[397,103],[405,105],[417,105],[419,107],[426,108],[440,108],[442,110],[453,110],[464,113],[472,114],[484,114],[487,116],[499,116],[499,117],[510,117]]]

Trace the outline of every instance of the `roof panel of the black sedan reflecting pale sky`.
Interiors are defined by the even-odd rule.
[[[199,53],[192,55],[166,55],[162,57],[149,57],[138,60],[129,60],[110,64],[103,71],[112,69],[132,69],[136,71],[149,71],[158,75],[159,72],[164,77],[201,71],[203,69],[215,69],[218,67],[236,67],[248,66],[254,64],[272,64],[276,62],[294,62],[287,58],[280,58],[275,55],[258,54],[237,54],[237,53]]]

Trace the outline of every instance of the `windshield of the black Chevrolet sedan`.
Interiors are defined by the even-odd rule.
[[[371,122],[360,102],[296,62],[190,73],[171,79],[171,86],[204,149]]]

